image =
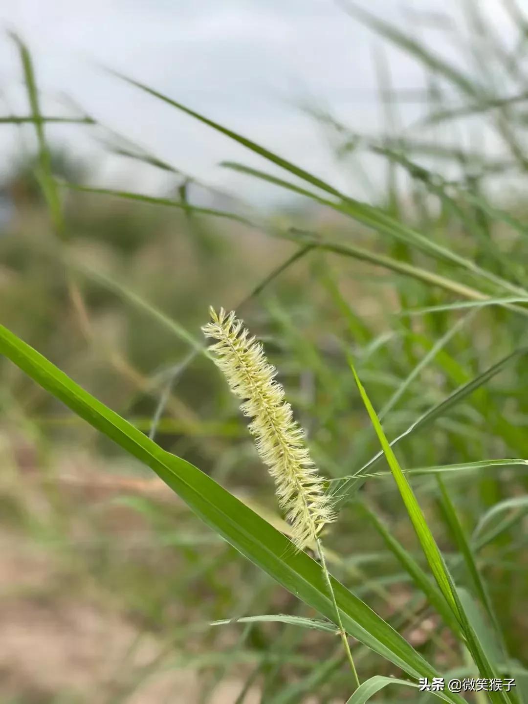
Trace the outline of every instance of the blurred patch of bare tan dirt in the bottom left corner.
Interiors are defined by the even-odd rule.
[[[142,634],[137,626],[101,603],[64,593],[63,588],[56,598],[39,596],[53,592],[54,579],[49,558],[12,536],[1,536],[1,701],[199,701],[199,675],[194,670],[164,671],[164,667],[170,667],[170,656],[160,657],[165,646],[151,634]],[[125,662],[126,667],[121,668]],[[240,689],[239,681],[226,679],[210,702],[231,704]],[[246,698],[247,704],[258,700],[256,691]]]

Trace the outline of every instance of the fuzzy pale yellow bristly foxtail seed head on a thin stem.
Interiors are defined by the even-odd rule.
[[[310,459],[303,430],[294,421],[284,389],[275,381],[277,370],[268,363],[262,344],[235,313],[209,309],[211,321],[203,326],[215,363],[224,373],[241,410],[251,418],[249,430],[256,448],[275,479],[280,507],[287,514],[292,541],[302,550],[314,541],[325,523],[334,520],[324,479]]]

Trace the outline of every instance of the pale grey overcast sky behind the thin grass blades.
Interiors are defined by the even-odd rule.
[[[483,4],[484,4],[484,0]],[[491,8],[495,0],[486,0]],[[363,0],[386,20],[405,23],[409,11],[453,13],[455,0]],[[403,7],[403,12],[402,12]],[[434,17],[434,15],[432,15]],[[494,23],[501,27],[503,16]],[[16,0],[0,6],[0,24],[27,42],[48,114],[73,114],[66,97],[104,125],[165,161],[253,201],[273,198],[272,187],[249,182],[218,166],[225,159],[252,163],[236,144],[173,108],[127,86],[100,68],[126,73],[261,142],[334,182],[344,176],[329,155],[325,134],[298,108],[313,101],[354,130],[379,129],[373,49],[382,41],[332,0]],[[438,51],[452,51],[451,30],[438,16],[422,35]],[[455,30],[458,27],[455,26]],[[504,24],[501,29],[508,32]],[[397,89],[424,85],[422,70],[389,50]],[[25,113],[18,56],[0,41],[0,113]],[[403,109],[412,122],[416,106]],[[2,161],[18,149],[18,134],[0,126]],[[55,142],[89,157],[101,183],[156,191],[161,175],[98,150],[87,127],[54,127]],[[260,164],[259,164],[260,165]]]

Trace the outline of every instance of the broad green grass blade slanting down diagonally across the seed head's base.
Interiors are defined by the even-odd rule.
[[[318,562],[294,550],[271,524],[190,463],[164,451],[133,425],[75,384],[49,360],[0,325],[0,353],[77,415],[148,465],[215,532],[242,555],[329,620],[335,612]],[[411,677],[436,677],[434,668],[363,601],[332,578],[348,634]],[[460,696],[449,693],[457,704]]]

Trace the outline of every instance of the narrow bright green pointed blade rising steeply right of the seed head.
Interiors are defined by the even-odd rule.
[[[460,603],[460,598],[458,598],[458,593],[451,574],[448,572],[444,558],[442,558],[432,532],[427,525],[425,515],[422,513],[422,509],[416,500],[413,489],[411,489],[408,479],[402,472],[398,460],[396,459],[396,455],[394,454],[389,441],[386,439],[382,425],[379,422],[372,403],[370,403],[370,398],[368,398],[363,384],[360,382],[356,368],[354,367],[353,361],[350,357],[348,358],[348,363],[351,367],[353,377],[356,380],[360,396],[370,417],[370,422],[372,422],[372,425],[374,426],[379,439],[379,444],[382,446],[382,451],[394,476],[396,486],[398,486],[398,490],[400,491],[401,498],[406,506],[407,513],[413,523],[413,527],[417,534],[418,540],[420,541],[420,545],[422,546],[425,558],[429,563],[434,579],[436,579],[436,584],[438,584],[441,593],[443,593],[444,598],[449,605],[449,608],[451,608],[456,620],[460,623],[460,626],[463,629],[467,640],[467,647],[470,650],[475,664],[479,668],[479,672],[482,674],[482,677],[485,677],[486,679],[493,679],[496,677],[494,667],[492,667],[491,662],[489,662],[486,653],[484,652],[484,648],[482,648],[482,643],[480,643],[477,634],[474,632],[474,629],[467,619],[463,605]],[[497,703],[510,701],[505,692],[490,692],[490,698]]]

